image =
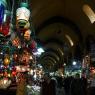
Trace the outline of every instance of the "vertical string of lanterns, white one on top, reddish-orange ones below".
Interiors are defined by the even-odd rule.
[[[15,54],[17,62],[17,72],[29,71],[30,66],[34,63],[32,51],[36,48],[36,42],[31,37],[30,30],[30,10],[27,2],[21,2],[16,10],[16,29],[12,38],[12,45],[18,48],[18,53]],[[34,43],[35,42],[35,43]]]

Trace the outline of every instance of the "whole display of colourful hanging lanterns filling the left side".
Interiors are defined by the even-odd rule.
[[[16,30],[11,32],[10,12],[6,10],[5,0],[0,0],[0,36],[10,40],[0,43],[0,79],[16,79],[18,73],[30,72],[35,63],[33,52],[37,44],[30,29],[30,10],[28,3],[21,2],[16,10]],[[8,47],[8,50],[6,49]],[[4,49],[5,48],[5,49]]]

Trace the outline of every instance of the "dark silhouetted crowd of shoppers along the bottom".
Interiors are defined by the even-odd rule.
[[[17,95],[25,94],[25,78],[17,86]],[[29,83],[30,84],[30,83]],[[95,75],[90,81],[85,77],[75,76],[53,76],[45,74],[40,82],[40,91],[37,95],[95,95]],[[34,95],[34,94],[33,94]],[[36,94],[35,94],[36,95]]]

